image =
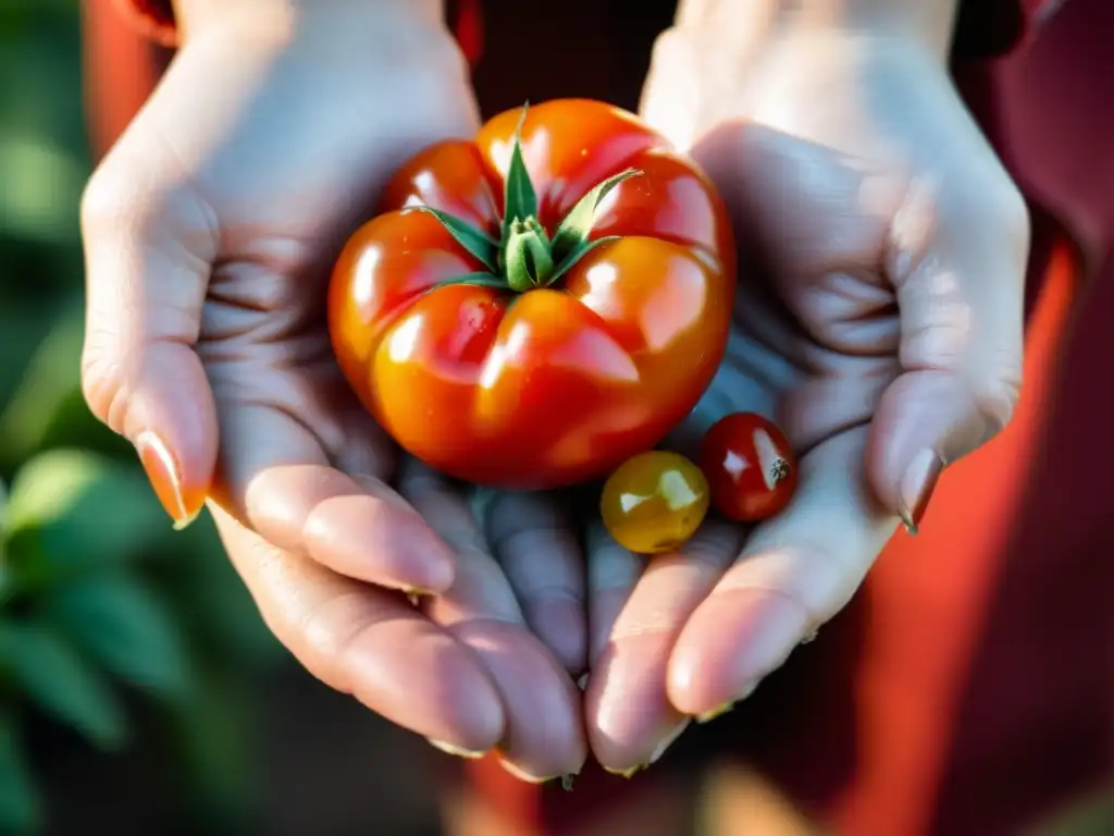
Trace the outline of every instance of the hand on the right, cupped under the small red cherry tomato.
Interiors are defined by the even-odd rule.
[[[744,254],[727,357],[675,441],[762,412],[801,454],[800,486],[778,517],[709,523],[644,571],[589,539],[586,720],[618,771],[743,699],[842,609],[1017,398],[1027,216],[950,85],[947,39],[774,29],[726,46],[737,27],[666,32],[643,109],[769,268]]]

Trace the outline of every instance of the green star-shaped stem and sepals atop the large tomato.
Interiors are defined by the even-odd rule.
[[[522,106],[522,115],[515,128],[498,241],[447,212],[429,206],[418,207],[436,217],[449,234],[489,271],[453,276],[440,284],[482,284],[505,288],[515,293],[525,293],[535,288],[548,288],[594,247],[617,240],[617,236],[608,236],[589,241],[596,213],[604,197],[613,188],[642,172],[627,168],[597,184],[577,201],[557,225],[550,239],[538,221],[537,192],[522,157],[521,133],[527,107]]]

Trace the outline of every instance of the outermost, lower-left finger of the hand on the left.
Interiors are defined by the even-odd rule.
[[[498,742],[499,696],[469,649],[402,596],[213,516],[264,621],[313,675],[442,749],[479,756]]]

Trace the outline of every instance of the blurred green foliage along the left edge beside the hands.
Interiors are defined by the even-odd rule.
[[[182,809],[229,824],[276,645],[209,521],[174,533],[81,399],[80,67],[76,0],[0,2],[0,833],[49,822],[35,715],[105,752],[165,730],[144,742],[173,757]]]

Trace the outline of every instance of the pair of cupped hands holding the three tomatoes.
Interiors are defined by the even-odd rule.
[[[643,97],[755,246],[676,443],[763,412],[801,480],[779,516],[709,522],[652,560],[560,495],[462,488],[408,458],[332,359],[345,236],[404,158],[477,127],[442,29],[198,27],[86,193],[85,392],[170,514],[209,497],[264,620],[314,675],[528,780],[589,751],[629,772],[743,699],[1017,397],[1025,207],[945,49],[715,39],[665,32]]]

